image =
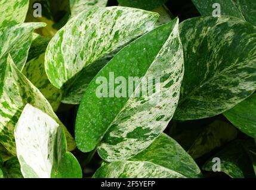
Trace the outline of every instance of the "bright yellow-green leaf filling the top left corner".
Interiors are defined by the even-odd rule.
[[[0,24],[4,22],[14,21],[23,23],[27,9],[29,8],[29,0],[1,0],[0,1]]]

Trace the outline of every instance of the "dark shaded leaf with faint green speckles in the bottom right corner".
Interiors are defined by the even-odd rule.
[[[203,170],[212,171],[214,157],[220,159],[221,172],[231,178],[255,178],[254,167],[246,151],[246,141],[235,141],[215,154],[204,165]]]

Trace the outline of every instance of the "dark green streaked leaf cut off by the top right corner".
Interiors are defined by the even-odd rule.
[[[214,9],[217,7],[215,4],[220,4],[220,14],[238,17],[242,20],[248,21],[256,25],[256,2],[251,0],[192,0],[198,8],[202,16],[211,16]]]

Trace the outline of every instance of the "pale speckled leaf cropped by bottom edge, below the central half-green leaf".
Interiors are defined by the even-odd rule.
[[[152,162],[119,161],[101,166],[93,178],[186,178]]]

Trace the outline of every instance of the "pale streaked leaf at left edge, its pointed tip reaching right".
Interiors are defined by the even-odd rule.
[[[2,24],[0,26],[0,59],[10,53],[17,68],[21,70],[27,60],[33,30],[44,26],[44,23]]]

